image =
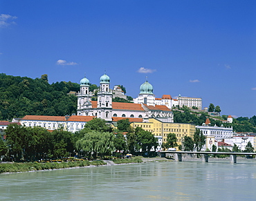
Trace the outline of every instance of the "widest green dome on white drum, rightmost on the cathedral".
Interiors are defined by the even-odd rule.
[[[155,106],[155,96],[153,94],[153,86],[149,82],[144,82],[140,85],[140,93],[136,99],[136,104],[147,104],[148,106]]]

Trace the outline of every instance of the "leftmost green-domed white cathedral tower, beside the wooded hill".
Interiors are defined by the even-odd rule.
[[[90,116],[92,108],[91,97],[89,92],[90,81],[85,76],[80,80],[80,92],[77,95],[77,115]]]

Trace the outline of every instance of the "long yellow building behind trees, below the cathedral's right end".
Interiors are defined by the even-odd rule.
[[[177,137],[177,144],[182,144],[184,137],[193,137],[196,127],[194,124],[170,123],[162,122],[160,119],[149,118],[149,122],[132,122],[131,126],[134,128],[141,127],[145,131],[152,132],[155,137],[162,139],[159,144],[167,142],[167,134],[175,133]]]

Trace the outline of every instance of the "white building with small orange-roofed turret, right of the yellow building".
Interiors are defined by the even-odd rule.
[[[216,140],[232,137],[233,133],[232,126],[230,128],[225,128],[223,127],[223,125],[221,125],[221,127],[216,125],[211,126],[210,119],[206,119],[205,123],[203,123],[202,126],[196,126],[196,128],[199,128],[202,131],[203,135],[214,136]]]

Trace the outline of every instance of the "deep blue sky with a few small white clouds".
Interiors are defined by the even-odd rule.
[[[99,84],[137,97],[201,97],[221,115],[256,115],[256,1],[0,2],[0,72]]]

